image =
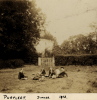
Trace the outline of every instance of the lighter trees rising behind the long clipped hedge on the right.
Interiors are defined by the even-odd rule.
[[[87,36],[82,34],[71,36],[62,43],[61,48],[64,54],[95,54],[95,36],[94,32],[89,33]]]

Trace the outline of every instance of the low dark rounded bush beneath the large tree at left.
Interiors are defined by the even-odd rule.
[[[24,61],[21,59],[10,59],[4,61],[3,68],[17,68],[24,65]]]

